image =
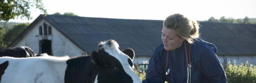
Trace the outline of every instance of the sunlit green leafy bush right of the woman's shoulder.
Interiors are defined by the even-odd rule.
[[[249,65],[248,61],[241,65],[233,65],[229,61],[225,69],[229,83],[256,83],[256,66]]]

